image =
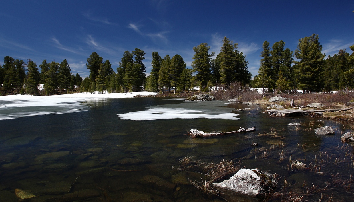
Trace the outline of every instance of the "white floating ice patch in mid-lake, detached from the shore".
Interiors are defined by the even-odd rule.
[[[235,117],[238,114],[234,113],[223,113],[217,115],[202,114],[203,111],[199,110],[188,110],[188,109],[171,109],[171,108],[150,108],[144,111],[133,111],[126,114],[117,114],[121,117],[121,120],[133,120],[133,121],[147,121],[147,120],[162,120],[162,119],[191,119],[191,118],[209,118],[209,119],[228,119],[228,120],[239,120],[240,118]]]

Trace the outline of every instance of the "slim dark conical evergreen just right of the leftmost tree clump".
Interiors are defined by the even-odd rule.
[[[38,94],[39,72],[35,62],[27,61],[26,93]]]

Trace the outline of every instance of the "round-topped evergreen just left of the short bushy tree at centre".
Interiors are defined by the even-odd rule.
[[[185,64],[183,58],[180,55],[175,55],[172,57],[169,76],[171,78],[171,84],[175,87],[174,93],[176,93],[176,87],[179,84],[182,71],[186,67],[187,65]]]

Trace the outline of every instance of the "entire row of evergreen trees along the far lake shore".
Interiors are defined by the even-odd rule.
[[[178,54],[162,58],[158,52],[153,52],[149,76],[145,74],[143,63],[145,52],[138,48],[124,52],[116,72],[109,60],[103,60],[93,52],[86,63],[90,75],[84,79],[70,72],[67,60],[61,63],[44,60],[39,65],[39,72],[36,63],[30,59],[25,63],[6,56],[4,65],[0,66],[1,93],[189,92],[194,86],[201,91],[209,91],[212,86],[227,88],[233,82],[268,88],[269,92],[275,89],[281,92],[292,89],[315,92],[354,88],[354,53],[349,55],[341,49],[338,54],[324,59],[318,35],[299,39],[295,52],[285,48],[284,41],[275,42],[272,47],[264,41],[262,48],[258,75],[253,80],[246,56],[238,50],[237,43],[226,37],[215,59],[212,59],[215,53],[210,53],[207,43],[193,47],[192,68],[187,68]],[[354,45],[350,49],[354,51]],[[44,92],[38,92],[38,84],[44,84]]]

